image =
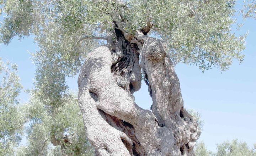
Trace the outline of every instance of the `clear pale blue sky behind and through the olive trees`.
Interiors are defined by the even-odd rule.
[[[203,140],[212,151],[216,149],[215,144],[224,140],[237,138],[249,145],[256,143],[256,20],[244,21],[237,35],[248,30],[245,59],[241,65],[234,61],[230,69],[223,73],[217,68],[201,73],[198,67],[182,63],[175,67],[185,107],[199,111],[204,120],[204,130],[199,140]],[[25,37],[21,41],[15,38],[8,46],[0,45],[0,57],[18,65],[24,89],[33,87],[36,67],[30,60],[29,52],[36,49],[32,37]],[[68,78],[67,82],[70,90],[78,90],[77,78]],[[134,95],[139,106],[150,108],[152,101],[144,83]],[[25,102],[28,95],[22,92],[19,98]]]

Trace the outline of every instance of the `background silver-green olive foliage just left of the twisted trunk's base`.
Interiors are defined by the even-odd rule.
[[[63,154],[90,156],[93,148],[86,139],[86,132],[78,102],[72,95],[50,115],[37,94],[32,93],[30,101],[22,106],[26,122],[27,144],[18,148],[17,156],[59,156]],[[61,148],[53,147],[52,135],[62,140],[65,134],[72,136],[72,144]]]

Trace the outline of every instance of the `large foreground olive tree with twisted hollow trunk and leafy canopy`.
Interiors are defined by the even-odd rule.
[[[225,71],[243,61],[245,36],[231,32],[235,2],[5,0],[0,39],[34,35],[34,84],[51,116],[69,97],[66,77],[80,73],[78,102],[96,155],[190,156],[201,132],[174,66]],[[142,79],[152,111],[134,102]]]

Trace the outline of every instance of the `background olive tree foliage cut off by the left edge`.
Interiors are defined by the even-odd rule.
[[[17,65],[6,64],[0,58],[0,155],[13,155],[13,147],[21,140],[22,113],[17,96],[22,89]]]

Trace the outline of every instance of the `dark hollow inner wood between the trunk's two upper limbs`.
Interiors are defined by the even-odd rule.
[[[116,40],[113,42],[115,53],[121,53],[117,61],[111,66],[111,72],[117,80],[119,87],[123,87],[130,93],[138,91],[141,86],[141,75],[139,67],[139,48],[138,45],[131,44],[124,36],[124,33],[114,28]]]

